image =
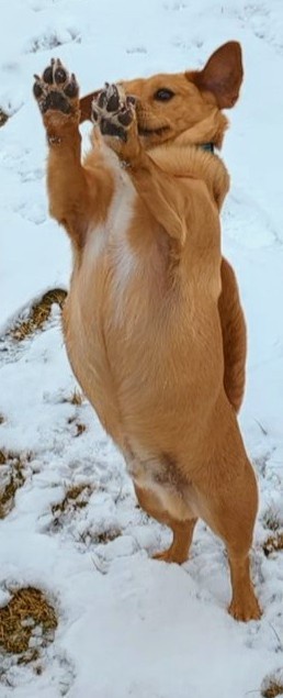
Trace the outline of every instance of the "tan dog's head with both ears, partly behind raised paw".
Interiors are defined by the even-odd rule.
[[[220,147],[230,109],[242,81],[240,44],[220,46],[202,70],[160,74],[123,81],[126,95],[136,99],[138,131],[146,147],[189,134],[189,142],[212,141]],[[89,118],[92,95],[81,100],[81,121]]]

